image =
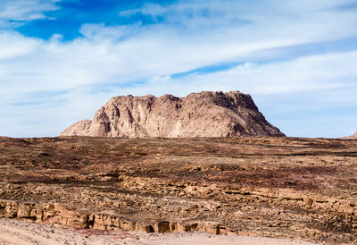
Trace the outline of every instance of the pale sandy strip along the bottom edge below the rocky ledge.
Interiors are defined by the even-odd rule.
[[[142,233],[83,230],[0,219],[0,244],[316,244],[263,237],[212,235],[202,232]]]

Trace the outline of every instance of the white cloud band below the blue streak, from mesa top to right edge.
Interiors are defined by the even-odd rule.
[[[192,73],[179,79],[157,76],[141,90],[129,88],[126,92],[137,91],[135,94],[143,94],[147,91],[160,95],[168,91],[185,96],[190,91],[221,88],[225,91],[239,89],[257,97],[276,97],[280,94],[357,89],[357,70],[353,69],[355,65],[357,51],[314,55],[277,63],[245,63],[228,71]],[[325,102],[345,101],[345,105],[357,102],[357,98],[351,97],[351,94],[349,98],[328,97]]]

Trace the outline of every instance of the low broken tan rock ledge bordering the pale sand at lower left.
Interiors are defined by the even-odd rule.
[[[152,224],[109,214],[83,214],[57,203],[37,204],[0,199],[0,218],[18,218],[38,223],[60,224],[66,227],[137,232],[209,232],[237,234],[216,222],[156,221]]]

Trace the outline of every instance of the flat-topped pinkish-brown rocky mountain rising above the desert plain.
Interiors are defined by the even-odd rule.
[[[232,91],[187,97],[112,97],[92,121],[71,125],[60,136],[193,138],[285,136],[267,122],[252,97]]]

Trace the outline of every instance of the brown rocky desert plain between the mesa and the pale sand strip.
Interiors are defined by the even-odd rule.
[[[4,218],[336,244],[356,206],[353,139],[0,138]]]

